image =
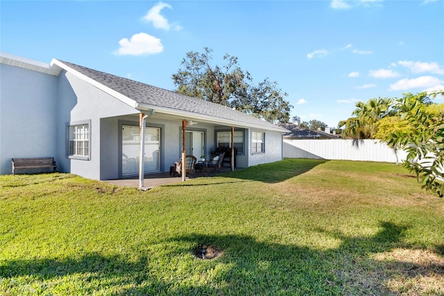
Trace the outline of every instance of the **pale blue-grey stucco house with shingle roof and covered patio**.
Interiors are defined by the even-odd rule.
[[[282,160],[284,128],[226,106],[57,59],[1,53],[0,73],[0,174],[16,157],[98,180],[169,172],[218,147],[236,148],[237,167]]]

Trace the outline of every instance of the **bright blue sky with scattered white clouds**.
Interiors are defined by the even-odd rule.
[[[237,56],[289,94],[291,116],[332,127],[356,101],[444,89],[443,0],[1,0],[0,13],[1,51],[168,90],[189,51]]]

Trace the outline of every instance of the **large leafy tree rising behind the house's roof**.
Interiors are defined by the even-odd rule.
[[[223,67],[212,67],[212,49],[204,49],[203,54],[188,52],[182,69],[173,74],[177,92],[237,108],[268,122],[289,122],[293,106],[284,100],[288,94],[278,88],[277,82],[267,78],[253,85],[250,73],[244,72],[237,58],[228,54],[223,56]]]

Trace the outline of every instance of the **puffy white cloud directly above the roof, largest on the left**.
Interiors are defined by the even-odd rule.
[[[130,40],[123,38],[119,41],[119,45],[120,48],[115,52],[117,55],[148,56],[159,54],[164,50],[159,38],[146,33],[135,34]]]

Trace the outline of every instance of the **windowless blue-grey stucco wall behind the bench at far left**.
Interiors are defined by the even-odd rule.
[[[5,64],[0,72],[0,174],[11,174],[11,158],[53,156],[58,162],[51,124],[57,76]]]

